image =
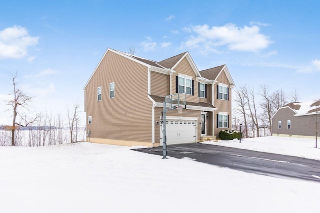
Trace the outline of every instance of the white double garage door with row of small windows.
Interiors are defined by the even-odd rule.
[[[195,143],[196,141],[195,120],[166,120],[166,144]],[[160,146],[163,145],[163,126],[160,125]]]

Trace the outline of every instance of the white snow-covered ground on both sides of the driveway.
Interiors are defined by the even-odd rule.
[[[245,139],[241,145],[236,140],[214,144],[304,157],[315,150],[309,157],[319,158],[320,149],[312,148],[313,141],[266,137]],[[313,213],[319,209],[316,182],[249,174],[191,159],[162,160],[130,149],[92,143],[0,147],[0,212]]]

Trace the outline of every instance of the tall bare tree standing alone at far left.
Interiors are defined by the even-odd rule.
[[[17,88],[17,82],[15,81],[17,77],[17,73],[12,76],[12,85],[13,90],[9,95],[13,95],[13,99],[7,101],[7,105],[9,105],[12,110],[13,118],[12,118],[12,126],[11,126],[11,146],[15,146],[15,130],[17,126],[27,127],[29,124],[34,122],[35,119],[28,121],[26,116],[20,113],[19,109],[24,108],[28,110],[28,103],[31,101],[32,97],[24,94],[19,88]],[[17,122],[17,116],[20,118],[22,122]]]

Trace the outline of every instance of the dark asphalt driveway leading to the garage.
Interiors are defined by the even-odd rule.
[[[162,146],[133,150],[159,155],[159,158],[162,156]],[[320,161],[312,159],[201,143],[168,145],[167,158],[170,157],[191,158],[201,163],[259,175],[320,182]]]

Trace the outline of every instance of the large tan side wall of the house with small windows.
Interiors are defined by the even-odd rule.
[[[114,82],[114,98],[109,84]],[[97,101],[97,87],[102,100]],[[91,138],[151,143],[151,107],[147,67],[108,51],[87,84],[87,124]]]

